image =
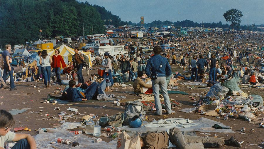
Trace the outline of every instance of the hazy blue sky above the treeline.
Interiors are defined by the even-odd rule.
[[[78,0],[104,6],[123,21],[138,23],[144,16],[145,23],[155,20],[197,23],[219,22],[226,24],[223,14],[229,9],[242,11],[241,25],[264,24],[263,0]],[[247,22],[249,21],[249,22]],[[230,23],[228,23],[230,24]]]

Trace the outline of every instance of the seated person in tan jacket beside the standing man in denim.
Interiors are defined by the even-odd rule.
[[[133,88],[135,94],[143,93],[143,87],[152,88],[152,84],[146,84],[142,79],[145,78],[143,71],[138,71],[138,77],[135,79]]]

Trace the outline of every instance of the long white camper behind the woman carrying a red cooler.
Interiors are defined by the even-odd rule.
[[[126,53],[125,46],[96,46],[94,47],[94,53],[104,55],[105,52],[110,53],[111,56]]]

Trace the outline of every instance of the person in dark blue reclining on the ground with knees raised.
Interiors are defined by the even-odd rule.
[[[100,84],[97,82],[92,83],[83,92],[80,92],[75,88],[76,82],[74,80],[69,81],[69,88],[66,90],[67,99],[72,102],[87,101],[93,97],[97,97],[98,94],[105,94]]]

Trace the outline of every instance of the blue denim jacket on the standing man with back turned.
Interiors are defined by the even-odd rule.
[[[151,76],[153,72],[156,73],[158,77],[170,76],[171,68],[167,58],[159,54],[152,56],[148,60],[145,73],[147,76]]]

